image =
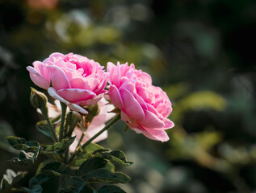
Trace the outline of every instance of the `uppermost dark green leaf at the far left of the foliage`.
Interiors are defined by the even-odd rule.
[[[36,141],[26,142],[24,138],[18,138],[15,136],[9,136],[6,139],[10,146],[16,150],[36,151],[38,146],[40,146],[40,144]]]

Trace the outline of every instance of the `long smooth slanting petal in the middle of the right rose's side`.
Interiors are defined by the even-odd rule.
[[[120,95],[124,102],[124,112],[128,117],[132,117],[136,119],[136,121],[144,121],[145,113],[141,108],[141,105],[136,101],[135,97],[132,96],[132,93],[126,88],[120,88]]]

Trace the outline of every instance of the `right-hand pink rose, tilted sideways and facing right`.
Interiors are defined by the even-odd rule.
[[[162,88],[152,85],[151,76],[136,70],[134,65],[107,64],[110,73],[109,98],[121,110],[121,118],[136,133],[166,142],[166,129],[174,126],[167,117],[172,108]]]

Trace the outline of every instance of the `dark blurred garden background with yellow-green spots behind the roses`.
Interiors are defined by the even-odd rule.
[[[48,140],[26,67],[59,51],[134,63],[172,101],[169,142],[119,122],[100,143],[136,162],[128,193],[256,192],[255,35],[254,0],[0,0],[0,175],[36,172],[6,162],[5,137]]]

